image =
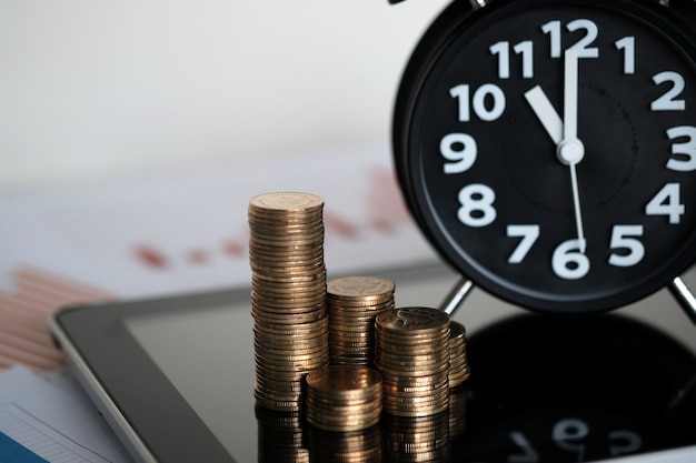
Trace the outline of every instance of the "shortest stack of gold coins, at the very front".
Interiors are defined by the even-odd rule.
[[[307,375],[307,422],[325,431],[358,431],[379,423],[381,375],[364,365],[331,365]]]

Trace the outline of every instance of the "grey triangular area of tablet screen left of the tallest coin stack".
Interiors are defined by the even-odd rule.
[[[125,323],[235,460],[256,461],[249,310],[213,306]]]

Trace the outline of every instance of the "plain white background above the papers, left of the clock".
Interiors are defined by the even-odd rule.
[[[445,0],[3,0],[0,193],[389,137]]]

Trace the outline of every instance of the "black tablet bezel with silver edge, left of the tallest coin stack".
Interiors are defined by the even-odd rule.
[[[67,308],[50,319],[50,329],[78,381],[137,461],[233,463],[123,321],[143,313],[206,310],[246,299],[248,290],[241,289]]]

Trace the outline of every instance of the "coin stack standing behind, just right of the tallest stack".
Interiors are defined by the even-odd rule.
[[[327,284],[329,355],[332,364],[371,365],[375,319],[394,309],[391,281],[374,276],[345,276]]]

